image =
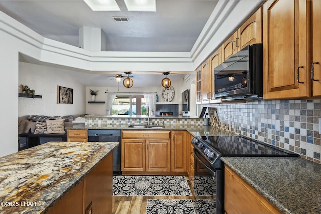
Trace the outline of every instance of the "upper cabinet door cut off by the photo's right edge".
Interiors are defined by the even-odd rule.
[[[321,96],[321,1],[311,1],[312,4],[312,62],[314,67],[313,96]],[[318,81],[316,81],[318,80]]]

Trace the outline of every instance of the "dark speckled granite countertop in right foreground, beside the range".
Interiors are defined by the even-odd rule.
[[[300,157],[221,160],[283,213],[321,213],[321,165]]]

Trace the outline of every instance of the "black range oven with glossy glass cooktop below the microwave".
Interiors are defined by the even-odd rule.
[[[242,136],[196,136],[194,146],[194,203],[198,213],[224,213],[222,156],[293,156]]]

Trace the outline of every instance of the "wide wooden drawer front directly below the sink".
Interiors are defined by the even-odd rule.
[[[151,138],[151,139],[170,139],[171,131],[131,131],[131,130],[124,130],[121,131],[122,138]]]

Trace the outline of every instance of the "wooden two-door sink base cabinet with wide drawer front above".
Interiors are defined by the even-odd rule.
[[[123,174],[170,172],[170,131],[123,130],[121,170]]]

